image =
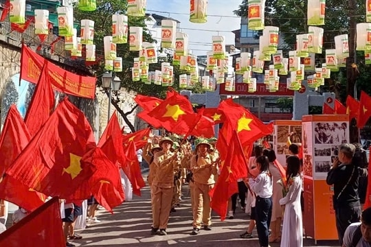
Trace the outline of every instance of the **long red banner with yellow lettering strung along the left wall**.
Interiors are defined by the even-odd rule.
[[[20,78],[37,84],[41,69],[45,66],[52,80],[53,89],[69,95],[94,99],[96,78],[76,75],[48,62],[27,46],[22,46]]]

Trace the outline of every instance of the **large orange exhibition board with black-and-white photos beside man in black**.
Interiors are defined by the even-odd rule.
[[[326,176],[339,153],[339,145],[348,142],[348,115],[302,117],[303,222],[306,235],[315,241],[338,239],[333,186],[326,184]]]

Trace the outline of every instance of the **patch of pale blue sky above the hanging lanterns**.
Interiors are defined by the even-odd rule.
[[[206,23],[191,23],[190,0],[147,0],[147,13],[180,21],[181,32],[188,34],[189,49],[196,56],[212,49],[212,36],[225,36],[226,45],[234,45],[233,30],[240,29],[240,17],[233,14],[242,0],[208,0]],[[206,31],[210,30],[210,31]],[[213,32],[211,32],[213,31]],[[218,32],[219,31],[219,32]]]

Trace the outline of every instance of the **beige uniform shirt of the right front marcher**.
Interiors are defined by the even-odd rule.
[[[218,166],[207,165],[213,163],[214,161],[214,156],[211,156],[210,154],[206,154],[205,157],[199,154],[197,161],[196,155],[192,156],[190,166],[193,172],[194,182],[201,183],[202,185],[214,185],[214,175],[218,173]]]

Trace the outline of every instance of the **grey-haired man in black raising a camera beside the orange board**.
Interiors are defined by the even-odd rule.
[[[333,206],[341,245],[346,228],[352,223],[359,222],[362,211],[358,193],[359,177],[368,175],[367,169],[359,167],[352,161],[355,150],[355,145],[341,144],[339,155],[334,158],[333,166],[326,178],[326,183],[334,187]]]

